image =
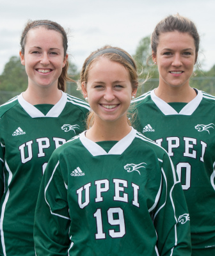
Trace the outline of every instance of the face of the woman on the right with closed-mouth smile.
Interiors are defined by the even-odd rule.
[[[159,86],[189,86],[196,61],[193,36],[178,31],[159,35],[157,53],[152,52],[159,70]]]

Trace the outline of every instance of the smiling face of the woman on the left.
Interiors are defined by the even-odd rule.
[[[28,74],[28,86],[56,86],[68,56],[64,56],[61,33],[44,27],[33,28],[26,35],[22,65]]]

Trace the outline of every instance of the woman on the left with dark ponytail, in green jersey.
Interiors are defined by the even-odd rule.
[[[65,93],[67,34],[56,22],[29,21],[20,40],[28,88],[0,107],[0,255],[35,255],[38,189],[53,150],[82,132],[88,104]]]

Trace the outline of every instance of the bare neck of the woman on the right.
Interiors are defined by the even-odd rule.
[[[165,102],[185,102],[188,103],[196,97],[196,92],[190,86],[163,88],[158,86],[155,89],[155,95]]]

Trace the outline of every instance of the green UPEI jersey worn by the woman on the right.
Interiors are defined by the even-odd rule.
[[[133,100],[131,109],[134,127],[171,157],[186,196],[193,250],[205,249],[205,256],[215,255],[215,97],[196,92],[187,104],[168,104],[153,90]]]

